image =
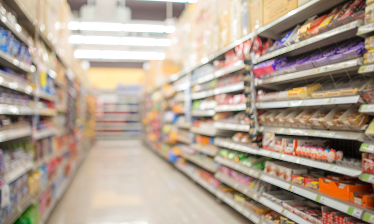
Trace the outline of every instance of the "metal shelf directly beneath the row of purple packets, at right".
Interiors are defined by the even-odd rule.
[[[362,58],[339,62],[330,65],[324,65],[317,68],[307,69],[299,72],[274,76],[267,79],[257,79],[256,86],[274,89],[274,84],[290,83],[294,81],[304,80],[306,78],[316,78],[327,74],[342,73],[345,71],[354,71],[359,69],[363,64]]]

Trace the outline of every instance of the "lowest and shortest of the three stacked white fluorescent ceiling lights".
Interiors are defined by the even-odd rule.
[[[79,59],[164,60],[165,54],[146,51],[76,50],[74,57]]]

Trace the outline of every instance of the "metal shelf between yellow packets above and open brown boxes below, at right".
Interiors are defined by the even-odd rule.
[[[273,108],[295,108],[310,107],[322,105],[340,105],[340,104],[357,104],[363,102],[359,95],[334,98],[317,98],[308,100],[293,101],[270,101],[256,103],[257,109],[273,109]]]

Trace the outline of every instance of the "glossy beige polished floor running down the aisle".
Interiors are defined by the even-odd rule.
[[[144,147],[98,141],[47,224],[248,224]]]

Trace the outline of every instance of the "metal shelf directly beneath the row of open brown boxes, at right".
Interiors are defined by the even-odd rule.
[[[350,131],[335,131],[335,130],[319,130],[319,129],[299,129],[289,127],[272,127],[261,126],[260,132],[271,132],[275,134],[296,135],[296,136],[311,136],[322,138],[335,138],[362,141],[363,133]]]

